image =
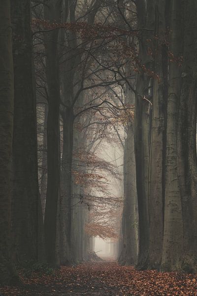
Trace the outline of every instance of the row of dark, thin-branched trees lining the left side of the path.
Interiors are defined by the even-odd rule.
[[[110,116],[100,110],[110,109],[107,87],[117,81],[103,79],[95,60],[106,41],[95,45],[81,32],[97,13],[105,18],[108,4],[85,2],[2,2],[2,284],[18,280],[15,266],[23,262],[78,263],[94,251],[93,235],[116,235],[110,218],[120,199],[101,174],[120,180],[120,173],[95,151],[102,139],[113,142],[103,119]],[[76,18],[84,19],[79,30]],[[110,208],[102,214],[101,203]]]

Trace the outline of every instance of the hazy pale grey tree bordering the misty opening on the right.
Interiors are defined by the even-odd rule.
[[[129,23],[133,18],[132,9],[129,7],[126,10],[126,2],[124,0],[117,1],[117,16],[119,22],[126,29],[126,23]],[[128,21],[127,21],[128,19]],[[126,22],[125,22],[126,21]],[[132,24],[132,23],[131,23]],[[132,27],[131,27],[132,28]],[[128,44],[127,37],[124,36],[123,40],[125,44]],[[127,60],[125,73],[132,73],[130,69],[130,59]],[[132,76],[133,78],[133,76]],[[134,92],[131,91],[130,86],[134,88],[133,79],[127,79],[127,83],[124,88],[125,93],[125,104],[133,104],[134,106]],[[125,116],[128,116],[127,110],[125,110]],[[131,115],[128,116],[127,127],[125,128],[125,143],[124,143],[124,205],[122,214],[122,242],[121,242],[121,253],[119,256],[119,262],[121,264],[130,265],[136,264],[138,243],[137,243],[137,215],[136,213],[136,168],[135,168],[135,151],[134,151],[134,120]]]

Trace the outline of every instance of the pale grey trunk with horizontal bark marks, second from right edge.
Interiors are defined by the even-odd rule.
[[[180,1],[172,0],[170,7],[170,52],[175,57],[181,55],[182,31]],[[167,137],[164,207],[164,243],[162,271],[180,270],[183,254],[183,219],[181,194],[177,168],[178,107],[181,89],[181,69],[178,63],[169,64],[169,88],[167,101]]]

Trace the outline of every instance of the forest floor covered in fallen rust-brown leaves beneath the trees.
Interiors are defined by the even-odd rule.
[[[197,274],[137,271],[116,262],[62,267],[22,282],[20,287],[0,288],[0,296],[197,296]]]

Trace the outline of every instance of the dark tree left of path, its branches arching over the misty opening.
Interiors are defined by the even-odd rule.
[[[65,0],[64,20],[76,23],[77,1]],[[87,14],[87,22],[92,25],[95,15],[99,9],[100,1],[93,1],[91,10]],[[80,99],[83,91],[83,74],[76,73],[77,67],[81,63],[86,42],[78,44],[76,32],[67,32],[65,34],[65,44],[69,49],[65,57],[65,68],[62,79],[63,104],[61,116],[63,119],[63,151],[61,162],[61,194],[60,194],[60,258],[62,264],[72,261],[70,252],[71,246],[71,196],[72,196],[72,149],[73,149],[73,123],[74,108]],[[83,72],[83,71],[82,71]],[[76,83],[80,81],[80,86]],[[76,85],[75,85],[76,83]]]

